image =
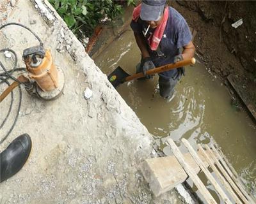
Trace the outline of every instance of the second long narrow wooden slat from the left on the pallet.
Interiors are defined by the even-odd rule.
[[[209,181],[212,183],[212,186],[214,186],[214,188],[216,189],[217,193],[220,194],[220,196],[223,199],[223,201],[225,203],[232,204],[231,201],[229,200],[227,194],[225,194],[225,192],[220,187],[220,185],[216,182],[214,177],[212,177],[210,171],[207,169],[207,167],[202,162],[200,157],[196,154],[195,150],[191,147],[191,145],[189,144],[188,140],[186,140],[185,138],[182,138],[181,141],[184,143],[185,147],[187,147],[187,149],[188,149],[189,153],[191,154],[191,156],[193,157],[193,159],[195,159],[196,164],[198,164],[198,166],[201,168],[201,170],[205,173],[207,179],[209,179]]]

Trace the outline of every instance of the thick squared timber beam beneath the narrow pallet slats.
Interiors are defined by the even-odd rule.
[[[186,163],[191,166],[191,169],[195,171],[196,174],[199,173],[200,168],[195,163],[191,154],[185,153],[183,156]],[[209,165],[201,152],[198,152],[198,156],[205,166]],[[146,159],[141,164],[140,170],[155,196],[170,191],[175,186],[188,179],[186,171],[180,166],[175,156]]]

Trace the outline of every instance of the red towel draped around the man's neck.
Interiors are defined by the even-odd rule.
[[[141,4],[136,6],[132,13],[132,20],[136,21],[140,17],[140,10],[141,10]],[[166,27],[166,23],[169,16],[169,9],[166,7],[164,9],[164,17],[160,25],[158,25],[154,31],[154,34],[150,35],[148,38],[148,45],[150,46],[151,50],[157,50],[157,47],[163,37],[164,29]]]

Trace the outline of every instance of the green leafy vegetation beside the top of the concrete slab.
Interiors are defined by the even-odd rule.
[[[135,0],[128,0],[127,5]],[[91,36],[94,27],[104,20],[111,21],[122,14],[124,1],[113,0],[49,0],[77,36]]]

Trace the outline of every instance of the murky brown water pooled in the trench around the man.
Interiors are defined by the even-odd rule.
[[[117,66],[132,74],[138,61],[140,50],[132,31],[122,34],[95,60],[106,74]],[[165,145],[168,138],[179,145],[180,139],[186,138],[194,148],[196,143],[215,140],[247,186],[255,189],[255,125],[246,113],[230,105],[225,85],[197,63],[186,68],[186,77],[177,84],[175,97],[168,101],[159,96],[157,78],[122,84],[117,91],[154,135],[164,153],[172,154]]]

